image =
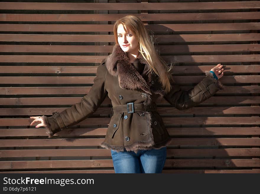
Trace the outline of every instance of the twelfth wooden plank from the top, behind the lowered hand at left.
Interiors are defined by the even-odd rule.
[[[38,114],[37,114],[38,115]],[[47,115],[47,114],[44,114]],[[32,116],[32,115],[31,115]],[[87,118],[77,125],[108,125],[111,118]],[[166,125],[260,125],[260,117],[163,117]],[[29,126],[30,118],[1,118],[0,126]]]

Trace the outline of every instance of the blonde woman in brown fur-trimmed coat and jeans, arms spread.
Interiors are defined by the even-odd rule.
[[[45,127],[49,138],[94,113],[106,96],[113,116],[101,147],[111,149],[116,173],[161,173],[170,143],[156,103],[164,97],[179,110],[189,109],[222,89],[222,65],[206,71],[206,77],[189,91],[174,83],[168,65],[156,53],[142,21],[128,15],[114,25],[115,46],[98,66],[89,93],[81,102],[53,116],[30,117],[31,125]]]

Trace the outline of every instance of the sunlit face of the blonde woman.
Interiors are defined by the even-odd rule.
[[[127,32],[124,30],[123,24],[119,24],[117,27],[117,41],[121,49],[124,52],[129,52],[134,55],[138,55],[138,42],[134,37],[131,30],[126,28]],[[126,45],[126,46],[125,46]]]

